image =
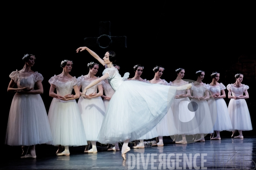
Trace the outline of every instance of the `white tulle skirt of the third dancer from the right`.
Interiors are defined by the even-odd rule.
[[[212,117],[207,101],[191,99],[191,102],[197,103],[197,109],[195,109],[195,117],[198,122],[199,132],[204,134],[213,133]]]

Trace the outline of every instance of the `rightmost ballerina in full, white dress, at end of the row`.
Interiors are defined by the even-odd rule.
[[[253,130],[252,122],[250,119],[250,113],[248,110],[245,99],[249,98],[248,85],[244,85],[241,82],[244,79],[243,74],[235,75],[236,82],[234,84],[228,84],[228,98],[230,102],[228,104],[228,112],[232,123],[232,136],[234,138],[244,138],[243,130]],[[243,95],[245,94],[245,95]],[[234,136],[235,130],[238,130],[239,136]]]

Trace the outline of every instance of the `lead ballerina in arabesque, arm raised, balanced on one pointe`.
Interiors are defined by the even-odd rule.
[[[124,142],[122,158],[126,159],[126,153],[130,150],[130,147],[128,147],[129,139],[139,139],[140,136],[152,130],[166,115],[176,91],[189,89],[191,84],[177,88],[140,81],[123,81],[121,75],[113,66],[113,62],[116,61],[114,51],[107,51],[105,57],[101,59],[87,47],[79,47],[76,52],[84,50],[87,50],[103,66],[106,64],[107,68],[103,71],[102,77],[84,88],[82,96],[85,96],[88,88],[104,79],[108,79],[109,84],[115,91],[102,122],[98,136],[99,142],[104,144]],[[140,117],[137,117],[139,114]],[[134,119],[134,117],[137,118]]]

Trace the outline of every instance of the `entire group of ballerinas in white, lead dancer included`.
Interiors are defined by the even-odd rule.
[[[234,138],[243,138],[243,130],[252,130],[244,100],[249,98],[249,87],[241,84],[242,74],[236,74],[236,82],[227,85],[230,99],[227,106],[223,99],[226,87],[218,82],[218,72],[211,74],[210,84],[202,82],[205,74],[201,70],[195,73],[195,82],[184,81],[183,68],[175,70],[174,81],[166,82],[160,79],[164,71],[160,65],[153,68],[151,80],[140,77],[142,65],[134,66],[133,78],[128,78],[128,73],[121,77],[120,67],[113,65],[115,52],[107,51],[103,59],[87,47],[80,47],[76,52],[84,50],[105,67],[103,76],[95,76],[99,64],[90,62],[87,75],[73,77],[70,75],[73,62],[63,60],[62,73],[49,79],[49,96],[53,99],[48,116],[40,96],[44,78],[31,70],[35,56],[26,54],[22,58],[23,69],[10,74],[8,92],[15,95],[9,112],[6,144],[22,146],[21,158],[35,159],[36,144],[58,146],[57,156],[69,156],[69,146],[85,145],[84,153],[97,153],[96,142],[108,144],[109,151],[120,150],[118,143],[123,142],[122,158],[126,159],[131,141],[135,141],[134,148],[144,148],[144,139],[157,138],[152,146],[161,147],[163,136],[175,136],[174,143],[187,144],[186,135],[200,134],[194,142],[204,142],[204,134],[210,133],[211,140],[220,140],[223,130],[232,131]],[[73,90],[75,94],[71,94]],[[75,99],[79,99],[78,102]],[[191,103],[196,109],[188,108]],[[235,130],[239,136],[234,136]],[[182,140],[177,141],[179,135]]]

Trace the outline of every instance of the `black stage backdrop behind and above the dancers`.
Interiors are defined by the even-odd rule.
[[[152,3],[139,1],[88,2],[79,4],[10,4],[5,7],[2,20],[2,88],[6,91],[12,71],[23,68],[24,54],[36,57],[33,71],[44,77],[44,101],[48,112],[48,80],[61,74],[61,61],[73,61],[72,76],[88,74],[87,63],[94,61],[87,51],[76,54],[84,45],[84,38],[99,37],[101,21],[110,21],[111,36],[126,36],[126,47],[120,44],[110,48],[93,46],[103,57],[115,51],[120,74],[134,76],[133,66],[143,65],[143,79],[153,79],[156,65],[165,68],[161,77],[176,79],[175,69],[185,68],[184,79],[196,80],[195,72],[205,71],[205,83],[210,83],[212,71],[220,73],[225,86],[234,83],[236,73],[244,74],[243,83],[249,85],[246,99],[252,122],[256,113],[256,33],[253,2],[222,1],[166,1]],[[96,76],[101,76],[103,66]],[[227,95],[226,90],[226,95]],[[150,93],[150,92],[148,92]],[[4,144],[9,108],[14,94],[5,92],[1,119],[1,139]],[[229,102],[230,99],[225,99]],[[244,136],[255,134],[253,130]],[[223,132],[221,136],[230,132]]]

